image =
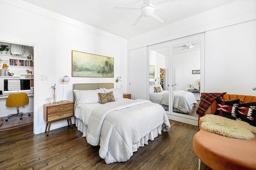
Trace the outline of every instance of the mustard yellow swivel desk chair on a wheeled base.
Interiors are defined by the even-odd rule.
[[[17,107],[17,113],[11,114],[7,116],[7,119],[5,121],[8,121],[8,119],[12,116],[20,116],[20,120],[22,120],[23,114],[28,114],[30,116],[30,113],[20,113],[19,107],[24,105],[27,105],[29,102],[28,100],[28,94],[26,93],[14,93],[10,94],[6,100],[6,106],[7,107]]]

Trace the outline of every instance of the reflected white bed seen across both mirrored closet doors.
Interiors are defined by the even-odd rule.
[[[169,108],[169,91],[160,90],[160,92],[155,92],[154,87],[160,87],[160,85],[149,86],[149,100],[153,103],[162,105],[162,107],[167,110]],[[172,92],[172,111],[180,113],[188,113],[192,110],[195,104],[198,104],[196,98],[192,92],[186,92],[184,90],[176,90]]]

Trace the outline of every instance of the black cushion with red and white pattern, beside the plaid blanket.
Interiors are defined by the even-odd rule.
[[[217,108],[214,115],[227,117],[236,120],[236,113],[238,111],[239,99],[226,101],[222,98],[217,98]]]

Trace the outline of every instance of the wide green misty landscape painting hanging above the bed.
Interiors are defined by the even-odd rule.
[[[114,58],[72,50],[72,77],[114,77]]]

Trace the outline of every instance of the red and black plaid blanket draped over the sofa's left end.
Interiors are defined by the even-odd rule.
[[[196,110],[196,114],[203,116],[204,112],[211,106],[212,102],[217,98],[223,96],[224,93],[202,93],[200,97],[200,103]]]

